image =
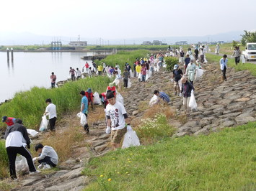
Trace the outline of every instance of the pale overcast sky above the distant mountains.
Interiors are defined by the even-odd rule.
[[[5,0],[0,32],[177,37],[256,29],[256,0]]]

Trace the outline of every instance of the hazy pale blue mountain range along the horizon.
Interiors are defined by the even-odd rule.
[[[161,40],[162,42],[172,45],[178,41],[187,41],[188,43],[197,42],[231,42],[232,40],[240,40],[243,31],[226,32],[220,34],[205,35],[202,37],[141,37],[134,39],[104,39],[100,43],[100,38],[81,38],[81,41],[87,41],[89,45],[140,45],[144,41]],[[61,39],[63,45],[68,45],[71,40],[77,40],[77,37],[50,37],[30,32],[0,32],[0,45],[48,45],[53,40]]]

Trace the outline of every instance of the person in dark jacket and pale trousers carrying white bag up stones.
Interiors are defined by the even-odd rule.
[[[180,81],[182,83],[182,88],[180,93],[182,93],[183,95],[183,105],[185,107],[187,116],[189,116],[190,108],[188,104],[190,103],[191,91],[195,90],[195,88],[189,81],[187,81],[187,78],[185,77],[182,77]]]

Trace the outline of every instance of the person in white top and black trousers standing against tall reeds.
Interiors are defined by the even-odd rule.
[[[56,112],[56,106],[51,102],[51,99],[48,98],[45,103],[48,105],[45,108],[44,115],[49,114],[49,124],[50,124],[50,131],[55,131],[55,124],[57,120],[57,112]]]

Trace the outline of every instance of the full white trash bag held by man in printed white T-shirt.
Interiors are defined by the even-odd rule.
[[[140,146],[140,140],[136,134],[136,131],[133,131],[131,126],[127,126],[127,132],[123,139],[122,149],[128,148],[130,146]]]

